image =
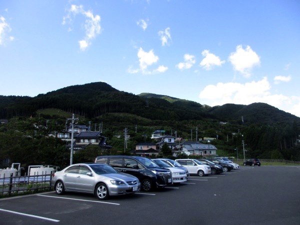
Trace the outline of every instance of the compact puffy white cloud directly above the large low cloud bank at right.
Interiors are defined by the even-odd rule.
[[[235,52],[231,52],[229,61],[235,70],[241,72],[245,77],[250,77],[250,70],[254,65],[260,65],[260,58],[250,46],[245,49],[241,45],[236,46]]]

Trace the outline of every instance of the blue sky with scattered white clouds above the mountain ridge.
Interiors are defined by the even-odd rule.
[[[298,0],[0,0],[0,95],[103,81],[300,116]]]

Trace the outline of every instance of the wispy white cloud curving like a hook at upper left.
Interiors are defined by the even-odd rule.
[[[81,14],[85,17],[85,23],[84,23],[84,30],[85,30],[85,36],[82,40],[79,40],[79,46],[80,50],[85,50],[90,44],[91,39],[94,39],[97,34],[100,33],[100,16],[94,15],[92,11],[90,10],[84,10],[83,5],[75,5],[72,4],[70,8],[67,10],[67,15],[63,16],[62,24],[72,23],[72,18],[75,17],[77,14]],[[70,31],[71,28],[68,28]]]

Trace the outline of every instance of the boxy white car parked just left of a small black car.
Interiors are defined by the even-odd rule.
[[[201,163],[197,159],[175,159],[175,161],[186,167],[190,174],[205,176],[211,173],[210,166]]]

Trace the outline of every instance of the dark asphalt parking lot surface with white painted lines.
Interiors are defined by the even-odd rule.
[[[299,224],[300,166],[240,166],[153,192],[0,199],[0,224]]]

